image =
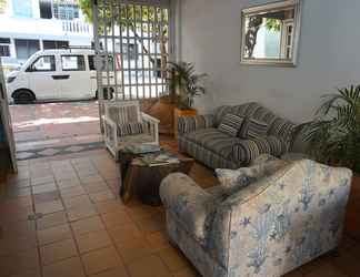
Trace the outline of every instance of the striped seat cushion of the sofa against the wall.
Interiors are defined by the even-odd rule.
[[[202,129],[184,135],[189,140],[224,158],[232,160],[232,146],[239,143],[240,138],[229,136],[218,129]]]

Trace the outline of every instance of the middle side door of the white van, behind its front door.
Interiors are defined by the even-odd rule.
[[[93,98],[91,94],[90,71],[86,66],[82,54],[61,55],[61,71],[63,75],[68,75],[67,79],[61,80],[61,99]]]

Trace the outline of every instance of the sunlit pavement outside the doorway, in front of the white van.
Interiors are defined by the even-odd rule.
[[[102,140],[97,101],[10,105],[19,158],[89,150]]]

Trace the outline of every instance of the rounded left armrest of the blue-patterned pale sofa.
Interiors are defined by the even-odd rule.
[[[160,197],[167,212],[173,215],[189,234],[201,242],[206,239],[207,219],[214,207],[211,194],[189,176],[173,173],[162,181]]]

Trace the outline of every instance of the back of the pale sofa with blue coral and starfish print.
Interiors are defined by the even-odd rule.
[[[301,160],[234,193],[218,206],[221,213],[213,223],[220,227],[212,228],[228,229],[217,237],[223,249],[217,243],[214,250],[226,257],[224,266],[243,268],[244,276],[280,276],[277,270],[289,271],[334,248],[341,238],[351,175],[346,168]],[[271,253],[289,257],[287,268],[273,267],[284,256]]]

